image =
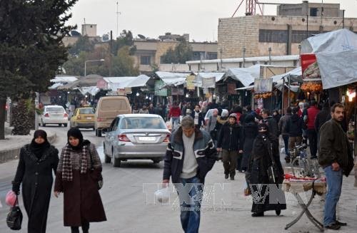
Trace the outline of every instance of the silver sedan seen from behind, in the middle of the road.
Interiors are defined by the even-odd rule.
[[[121,161],[164,160],[170,131],[160,115],[118,115],[104,138],[105,162],[120,167]]]

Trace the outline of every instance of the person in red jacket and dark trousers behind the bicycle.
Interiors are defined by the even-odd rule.
[[[308,108],[308,119],[306,127],[308,129],[308,145],[310,145],[311,159],[316,159],[317,156],[317,132],[315,130],[315,118],[320,110],[316,107],[316,101],[311,100],[310,108]]]

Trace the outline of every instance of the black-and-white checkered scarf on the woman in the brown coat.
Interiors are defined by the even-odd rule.
[[[86,173],[87,170],[87,153],[89,152],[88,145],[83,145],[81,148],[81,174]],[[64,148],[64,155],[63,155],[63,163],[62,163],[62,170],[60,171],[62,174],[62,180],[72,181],[73,180],[73,170],[71,164],[71,150],[72,147],[69,143],[67,143],[66,147]]]

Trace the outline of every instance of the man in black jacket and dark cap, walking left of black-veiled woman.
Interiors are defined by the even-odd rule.
[[[221,128],[217,143],[217,150],[222,151],[224,176],[228,179],[230,175],[231,180],[234,180],[234,175],[236,175],[238,152],[243,152],[243,130],[236,121],[235,114],[229,115],[228,122]]]

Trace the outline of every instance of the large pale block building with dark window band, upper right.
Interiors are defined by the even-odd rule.
[[[218,19],[218,58],[298,54],[299,44],[308,36],[343,26],[357,31],[353,28],[357,19],[343,19],[343,10],[339,8],[339,4],[303,1],[281,4],[277,16]]]

